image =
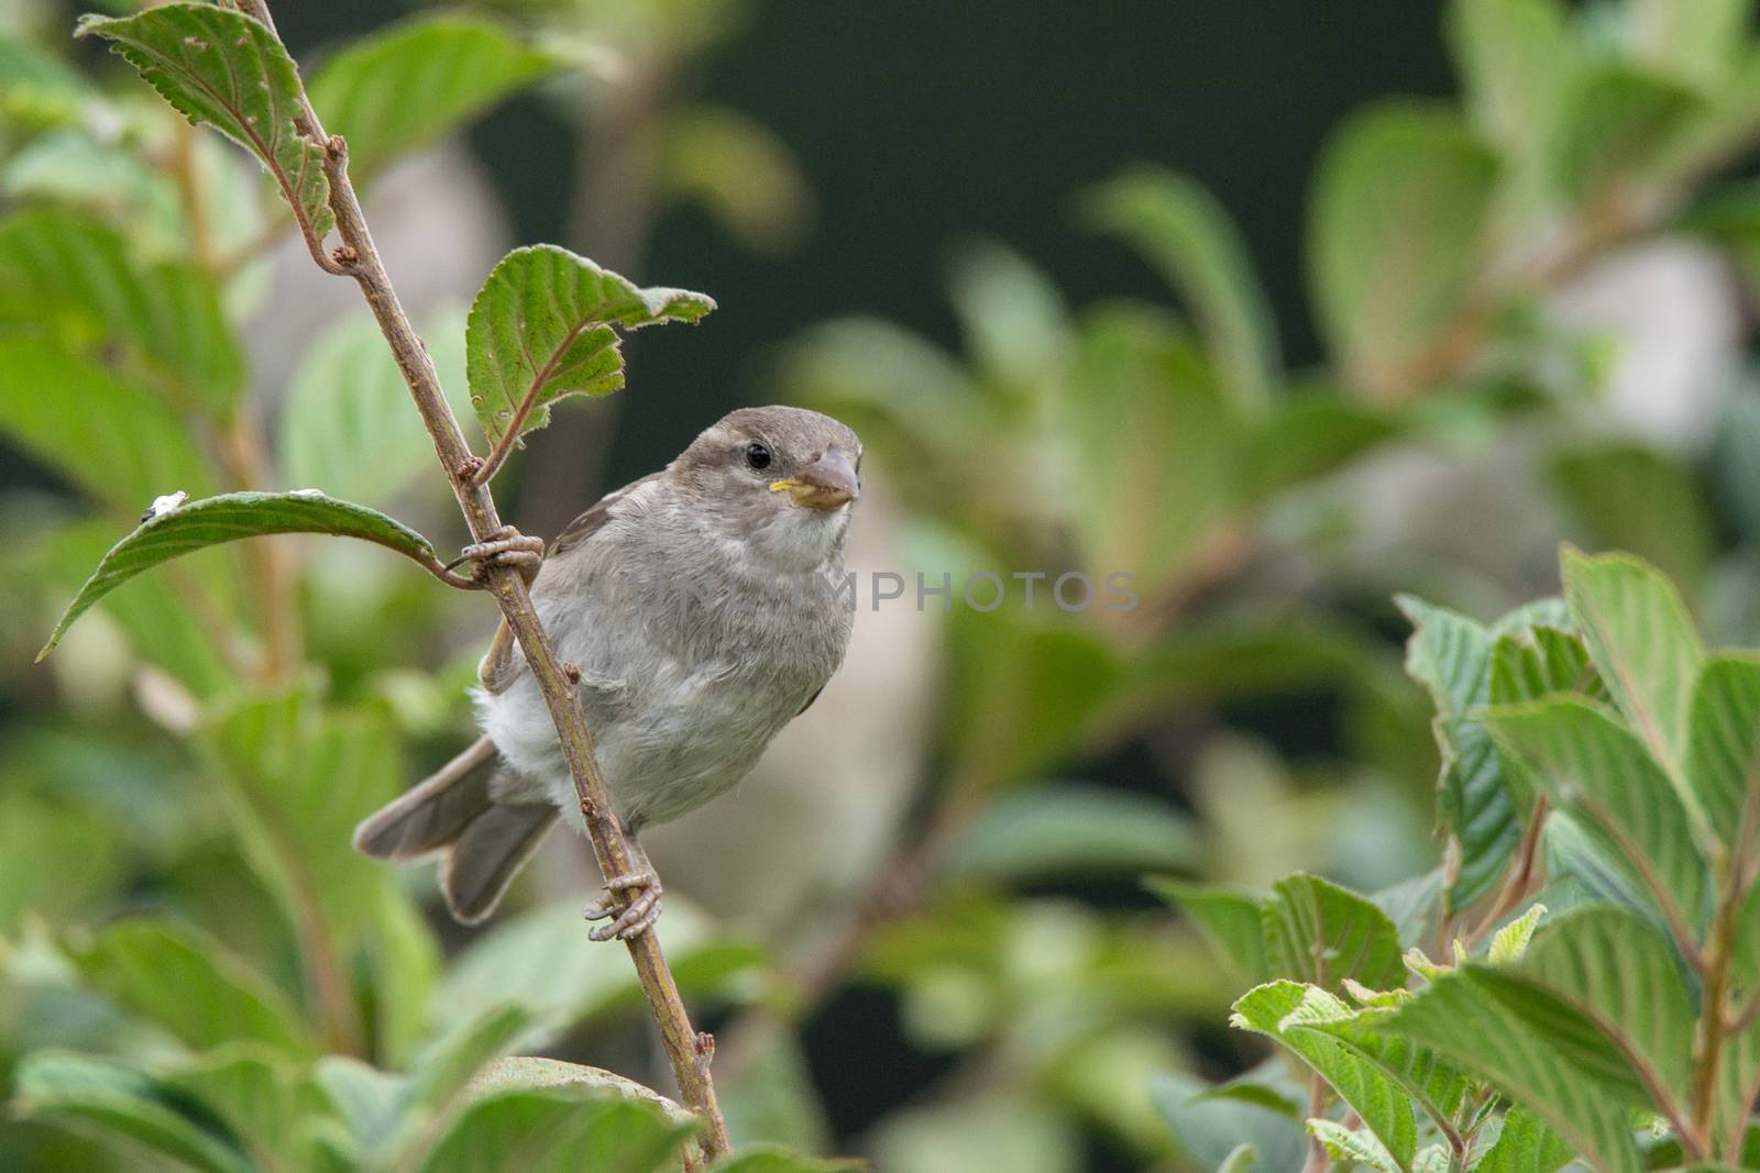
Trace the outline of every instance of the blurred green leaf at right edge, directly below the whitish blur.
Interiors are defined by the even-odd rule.
[[[1593,545],[1630,550],[1697,593],[1714,550],[1711,505],[1679,461],[1616,445],[1563,452],[1547,471]]]

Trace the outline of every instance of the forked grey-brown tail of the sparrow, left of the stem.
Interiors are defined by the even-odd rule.
[[[410,860],[444,851],[440,892],[452,916],[473,925],[495,911],[507,885],[556,821],[549,804],[496,804],[489,781],[502,754],[488,737],[354,828],[356,851]]]

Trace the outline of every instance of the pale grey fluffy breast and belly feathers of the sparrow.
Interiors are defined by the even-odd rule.
[[[750,531],[646,482],[567,559],[546,563],[533,600],[581,668],[625,827],[676,818],[737,783],[838,670],[854,623],[836,593],[845,522],[847,512],[787,510]],[[535,786],[577,818],[530,674],[479,709],[519,776],[503,786]]]

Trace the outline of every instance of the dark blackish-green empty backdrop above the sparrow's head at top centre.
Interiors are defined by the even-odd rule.
[[[641,2],[641,0],[630,0]],[[296,56],[405,12],[385,0],[283,4]],[[796,251],[760,257],[693,209],[665,215],[637,273],[720,302],[695,331],[641,346],[604,484],[671,459],[679,434],[764,403],[766,355],[797,329],[868,313],[957,343],[943,295],[961,243],[1023,251],[1072,304],[1169,297],[1121,246],[1082,230],[1079,193],[1128,164],[1204,183],[1246,236],[1285,357],[1318,343],[1302,288],[1308,185],[1339,118],[1389,95],[1454,90],[1441,9],[1422,0],[780,0],[681,79],[796,153],[817,200]],[[519,243],[567,241],[570,132],[524,97],[472,144]],[[392,274],[396,276],[396,274]],[[669,424],[678,413],[692,422]]]

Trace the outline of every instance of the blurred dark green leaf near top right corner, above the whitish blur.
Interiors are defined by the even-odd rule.
[[[1660,178],[1704,104],[1690,90],[1630,65],[1586,69],[1563,97],[1554,183],[1579,206]]]

